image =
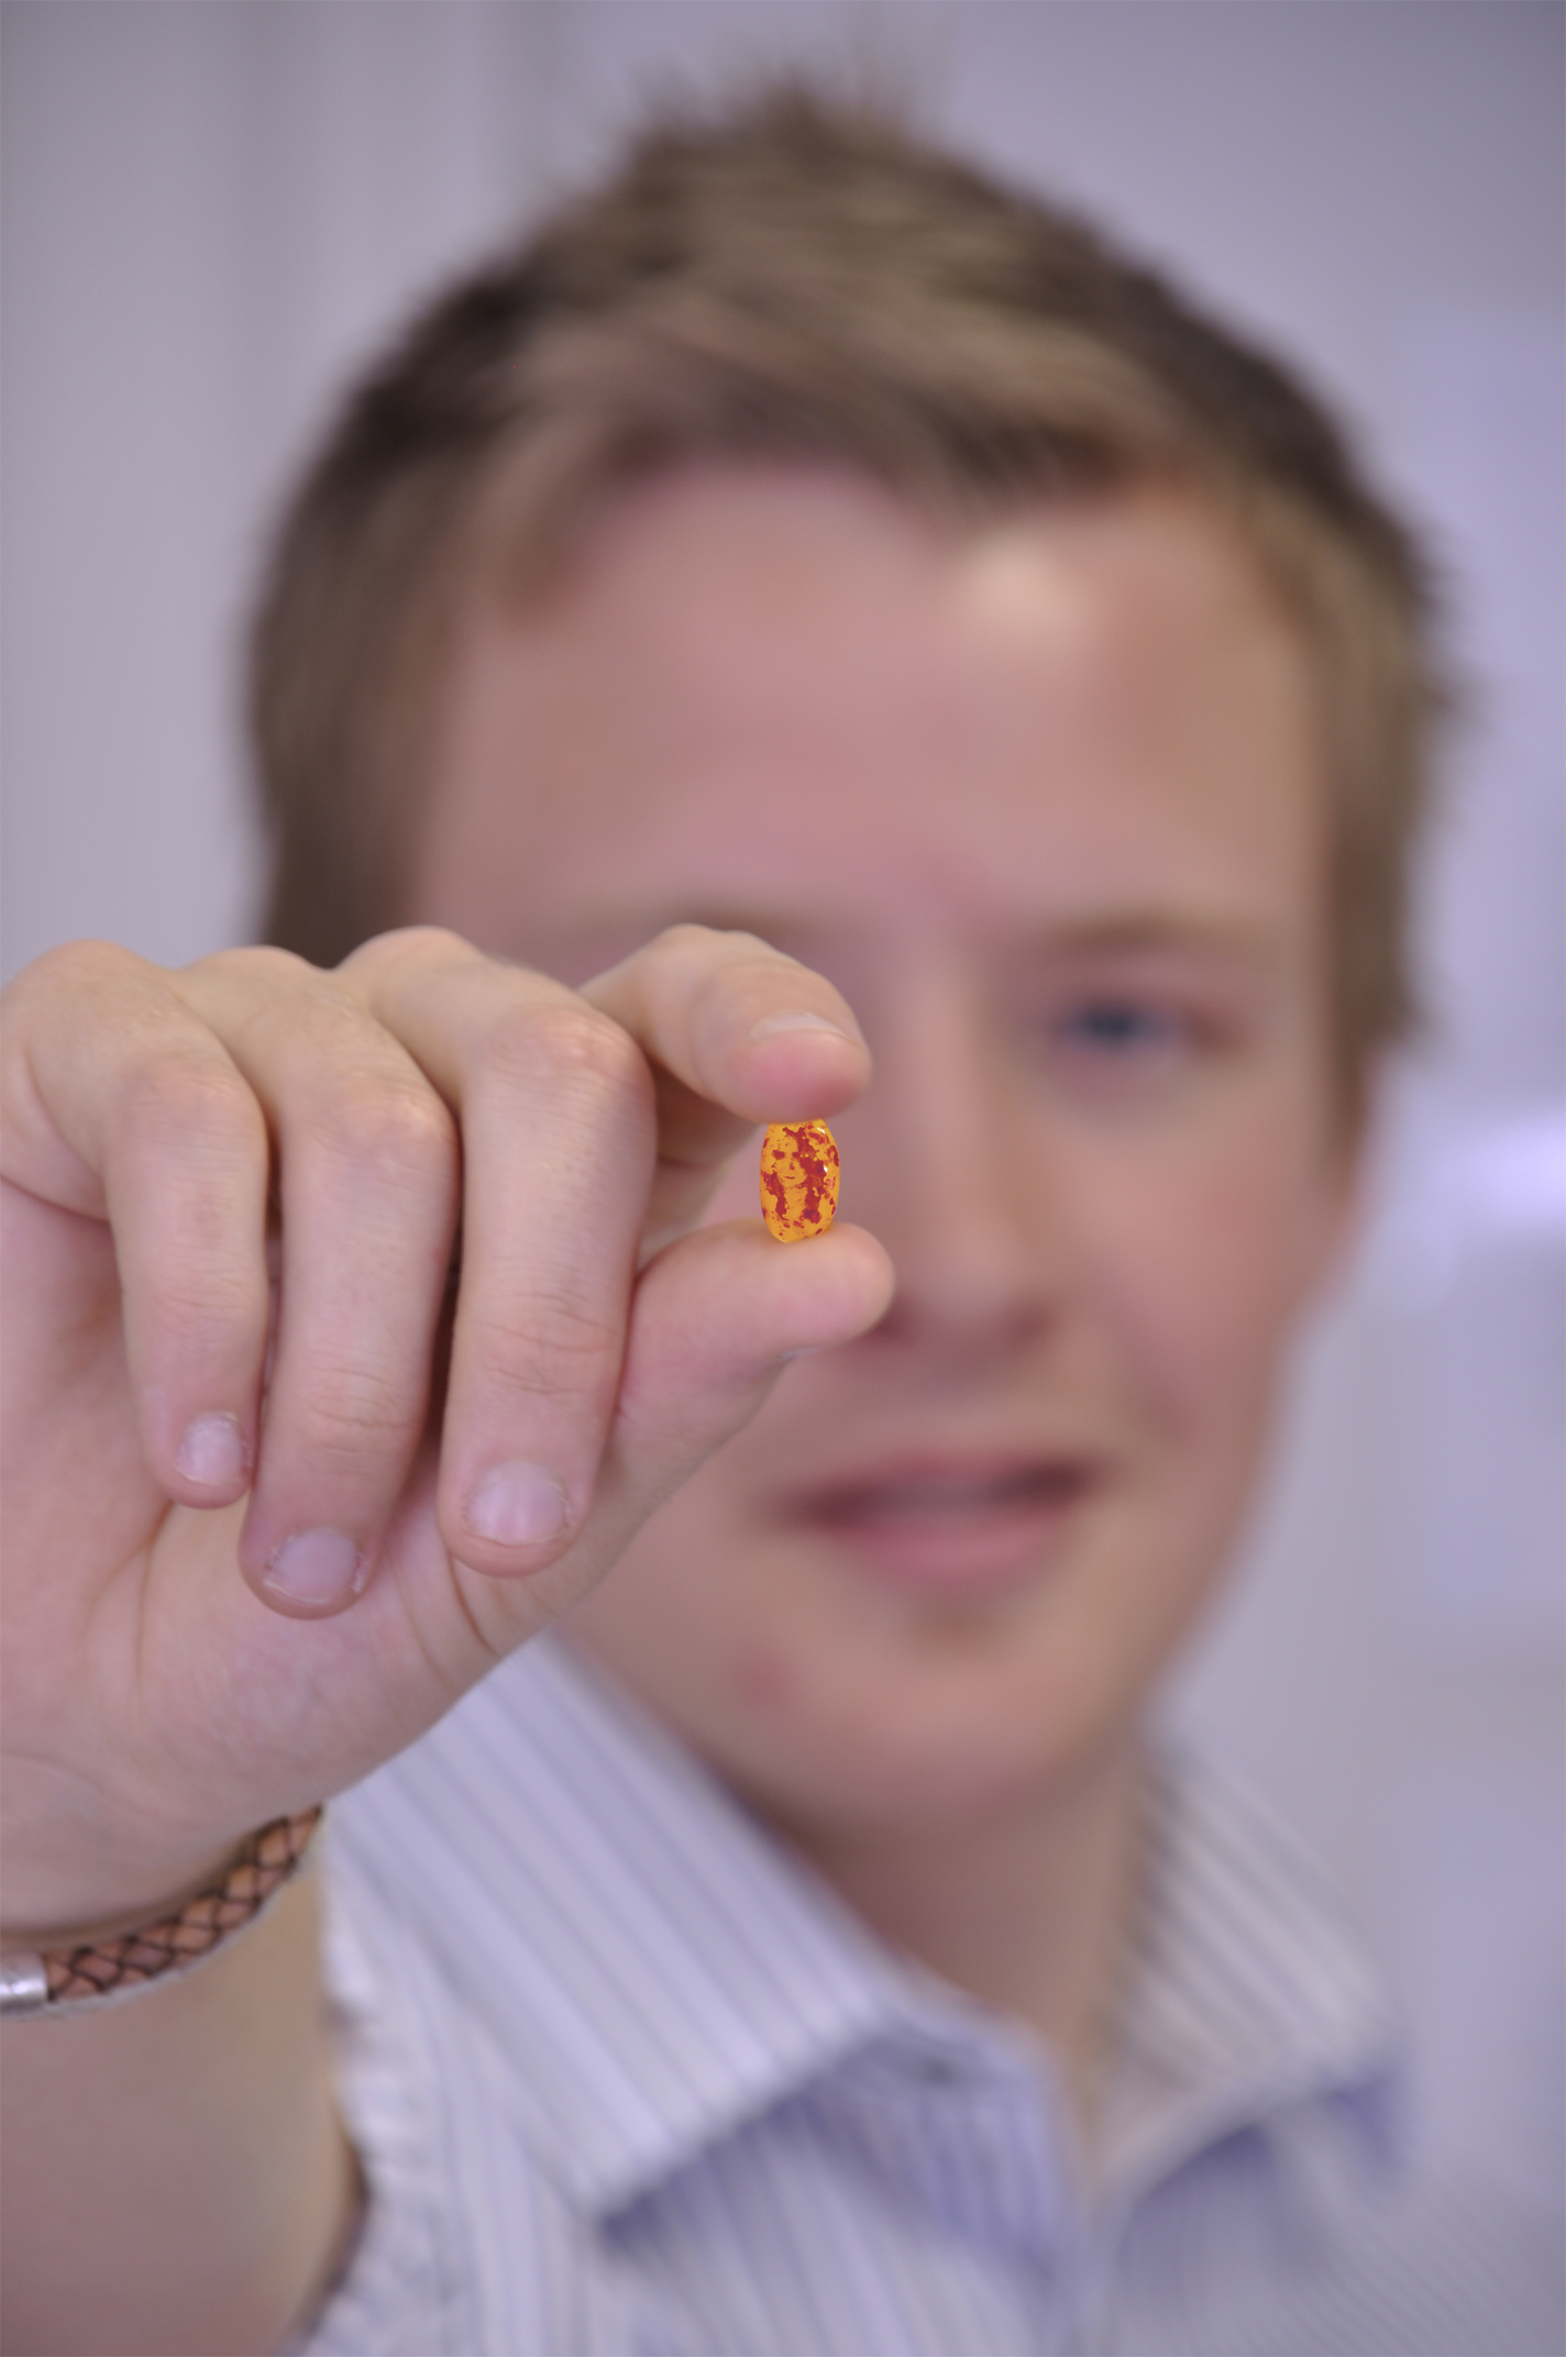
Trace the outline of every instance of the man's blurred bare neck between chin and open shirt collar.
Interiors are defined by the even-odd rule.
[[[887,1945],[1040,2032],[1087,2143],[1137,1886],[1139,1784],[1125,1747],[1066,1794],[976,1820],[788,1829]]]

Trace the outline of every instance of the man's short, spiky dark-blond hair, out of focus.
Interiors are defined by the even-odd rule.
[[[1408,528],[1321,401],[1165,276],[800,87],[653,127],[347,403],[255,622],[267,938],[335,964],[406,915],[474,568],[542,587],[606,500],[700,457],[847,464],[974,509],[1151,481],[1217,500],[1314,658],[1333,1032],[1358,1108],[1410,1018],[1408,865],[1441,705]]]

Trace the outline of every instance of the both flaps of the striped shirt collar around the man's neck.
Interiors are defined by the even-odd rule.
[[[1226,2119],[1361,2079],[1384,2044],[1363,1966],[1255,1810],[1165,1761],[1149,1838],[1106,2192]],[[899,1963],[552,1638],[337,1803],[337,1846],[413,1919],[540,2164],[599,2216],[807,2084],[863,2077],[866,2058],[1035,2062],[1026,2036]]]

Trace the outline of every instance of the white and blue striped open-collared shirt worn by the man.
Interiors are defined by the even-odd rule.
[[[559,1640],[333,1817],[370,2187],[309,2357],[1554,2357],[1549,2260],[1396,2199],[1382,2001],[1158,1775],[1092,2185],[1047,2051],[870,1933]]]

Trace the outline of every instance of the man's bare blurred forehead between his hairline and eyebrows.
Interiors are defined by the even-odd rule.
[[[542,957],[677,917],[1297,922],[1307,662],[1193,500],[925,516],[830,474],[627,497],[467,620],[417,915]]]

